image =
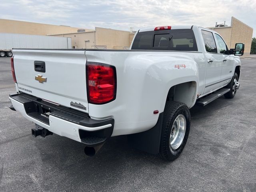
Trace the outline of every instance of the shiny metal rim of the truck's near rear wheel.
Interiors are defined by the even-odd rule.
[[[170,148],[178,149],[182,144],[186,132],[186,118],[180,114],[176,117],[172,124],[170,134]]]

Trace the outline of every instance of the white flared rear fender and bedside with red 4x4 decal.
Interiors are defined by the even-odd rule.
[[[192,107],[198,89],[198,66],[204,64],[200,53],[147,52],[147,51],[86,51],[87,60],[116,67],[116,99],[108,104],[89,104],[91,118],[111,117],[115,120],[112,136],[149,130],[164,112],[171,87],[192,83],[190,102],[176,95],[178,101]],[[181,90],[186,88],[181,88]],[[184,94],[188,95],[187,92]],[[181,99],[182,98],[182,99]],[[154,111],[158,111],[157,114]]]

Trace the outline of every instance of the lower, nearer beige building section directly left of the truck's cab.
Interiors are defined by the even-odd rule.
[[[128,49],[134,33],[96,27],[93,31],[52,34],[51,36],[70,37],[72,48]]]

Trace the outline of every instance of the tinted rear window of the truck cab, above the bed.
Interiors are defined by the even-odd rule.
[[[172,29],[138,32],[132,49],[197,51],[192,29]]]

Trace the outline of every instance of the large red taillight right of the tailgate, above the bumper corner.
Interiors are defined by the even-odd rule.
[[[116,98],[116,69],[107,64],[87,62],[88,102],[108,103]]]

